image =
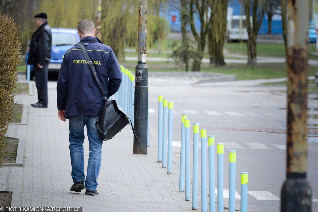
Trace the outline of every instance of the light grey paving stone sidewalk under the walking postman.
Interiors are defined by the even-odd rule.
[[[27,124],[21,129],[10,127],[9,136],[23,134],[24,167],[1,169],[0,189],[15,192],[12,206],[82,206],[83,211],[191,211],[191,201],[184,201],[179,188],[179,162],[173,155],[172,174],[157,163],[156,138],[151,138],[147,155],[133,153],[133,133],[125,127],[102,148],[102,165],[98,178],[99,196],[72,193],[68,121],[57,116],[56,82],[49,82],[48,108],[33,108],[36,88],[31,94],[18,96],[19,104],[28,106]],[[32,93],[33,92],[33,93]],[[155,132],[153,132],[155,133]],[[88,159],[88,140],[84,158]],[[86,169],[85,169],[86,170]],[[15,180],[17,178],[17,180]],[[21,179],[21,180],[19,180]],[[201,197],[198,196],[200,207]],[[16,202],[16,203],[14,203]],[[18,204],[17,204],[18,202]],[[14,205],[16,204],[16,205]]]

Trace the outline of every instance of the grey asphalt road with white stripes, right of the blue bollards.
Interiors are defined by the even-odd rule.
[[[183,77],[149,77],[149,120],[152,140],[157,140],[158,95],[162,94],[163,98],[174,101],[174,155],[180,157],[181,115],[184,114],[190,119],[190,142],[193,140],[191,126],[193,123],[199,123],[200,128],[207,129],[207,135],[215,136],[216,144],[225,144],[224,189],[229,189],[228,150],[234,149],[237,151],[238,194],[240,194],[240,172],[249,173],[248,211],[280,211],[280,189],[286,177],[286,134],[216,129],[217,127],[286,128],[287,97],[281,92],[286,87],[244,85],[242,82],[191,85],[196,80]],[[311,108],[308,111],[311,114],[308,116],[308,123],[311,123],[310,127],[315,127],[315,123],[318,123],[318,100],[315,95],[309,97],[308,107]],[[312,211],[318,211],[316,179],[318,137],[310,136],[308,141],[308,181],[313,190]],[[192,148],[191,144],[191,178]],[[198,179],[200,192],[200,162]],[[215,183],[217,185],[217,181]],[[228,198],[224,198],[224,207],[228,207]],[[240,199],[236,199],[236,209],[240,210]]]

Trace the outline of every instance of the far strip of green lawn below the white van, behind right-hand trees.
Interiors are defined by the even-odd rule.
[[[247,45],[246,43],[225,43],[224,48],[229,53],[247,55]],[[284,58],[285,54],[285,44],[277,43],[257,43],[256,44],[257,56],[264,57],[279,57]],[[316,52],[315,44],[309,44],[309,52]],[[309,59],[318,59],[318,56],[309,54]]]

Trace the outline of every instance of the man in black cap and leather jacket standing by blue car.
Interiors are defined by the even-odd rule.
[[[34,17],[38,29],[31,38],[28,64],[33,65],[38,102],[31,105],[47,107],[47,77],[52,46],[51,28],[47,23],[46,13],[42,12]]]

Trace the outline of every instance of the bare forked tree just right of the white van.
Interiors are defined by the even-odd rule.
[[[256,37],[266,10],[266,0],[245,0],[247,40],[247,64],[256,65]],[[250,20],[252,5],[252,23]]]

